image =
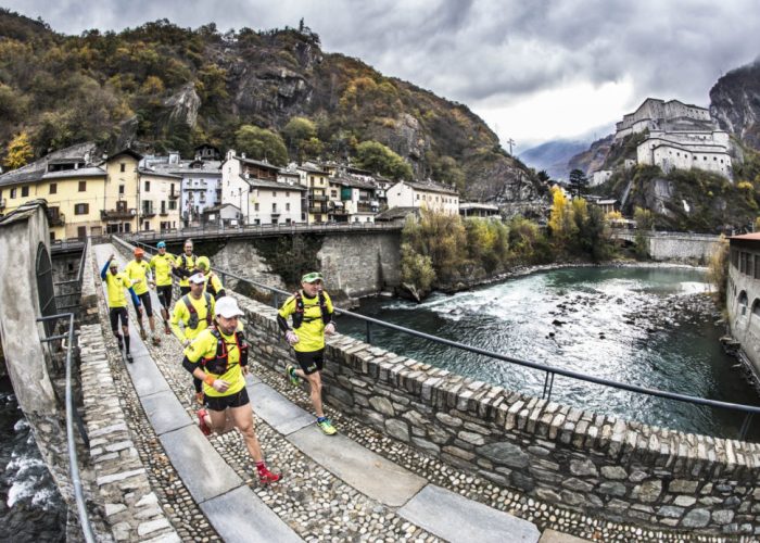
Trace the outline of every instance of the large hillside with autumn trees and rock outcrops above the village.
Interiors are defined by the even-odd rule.
[[[466,198],[531,201],[542,191],[467,106],[324,53],[305,26],[221,35],[162,20],[63,36],[0,10],[2,150],[24,131],[36,156],[92,139],[188,156],[201,143],[235,148],[242,125],[282,132],[294,116],[316,126],[319,159],[345,160],[376,140],[416,177],[455,184]]]

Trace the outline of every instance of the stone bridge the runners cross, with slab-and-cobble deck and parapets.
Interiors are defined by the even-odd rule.
[[[46,238],[42,227],[20,238],[21,223],[14,225],[9,238],[0,224],[0,254],[11,254],[5,251],[12,242],[38,247],[35,240]],[[757,444],[525,396],[340,334],[329,341],[325,371],[327,413],[340,433],[321,435],[306,391],[282,377],[292,354],[277,331],[275,310],[233,293],[245,312],[255,361],[248,390],[257,433],[268,464],[283,475],[276,484],[258,485],[238,434],[207,439],[198,429],[192,386],[173,337],[160,346],[142,342],[130,308],[135,362],[119,356],[97,273],[112,252],[126,263],[130,249],[97,244],[84,261],[78,381],[89,445],[80,442],[79,449],[87,508],[100,540],[760,535]],[[2,286],[12,276],[9,266],[17,278],[24,269],[31,274],[35,262],[0,262],[0,333],[22,400],[54,378],[43,371],[17,377],[28,365],[30,338],[45,332],[25,324],[21,302],[14,305],[21,324],[7,319],[11,294]],[[16,339],[21,332],[27,333],[24,341]],[[58,405],[54,394],[47,402],[46,408]],[[58,446],[63,430],[48,428],[56,417],[42,419],[35,416],[39,405],[21,404],[40,447]],[[52,452],[43,456],[65,489],[65,465]],[[64,496],[69,500],[71,492]]]

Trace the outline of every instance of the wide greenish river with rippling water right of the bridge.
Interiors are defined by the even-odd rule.
[[[574,267],[533,273],[421,304],[362,301],[358,313],[516,358],[605,379],[759,405],[718,341],[724,333],[705,272]],[[365,338],[365,324],[340,330]],[[544,372],[373,326],[372,343],[454,372],[541,396]],[[736,438],[743,415],[557,376],[552,400],[687,432]],[[760,420],[749,439],[760,441]]]

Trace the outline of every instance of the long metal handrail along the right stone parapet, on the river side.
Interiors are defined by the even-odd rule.
[[[139,243],[142,248],[147,249],[148,251],[155,252],[156,249],[147,245],[144,243]],[[218,268],[212,268],[221,279],[221,282],[226,286],[227,285],[227,278],[232,278],[237,281],[242,281],[246,282],[249,285],[252,285],[256,289],[261,289],[267,292],[270,292],[273,294],[273,306],[274,307],[279,307],[280,305],[280,300],[284,301],[288,296],[292,295],[292,292],[287,292],[284,290],[278,289],[276,287],[270,287],[268,285],[263,285],[261,282],[254,281],[252,279],[246,279],[244,277],[240,277],[236,274],[232,274],[230,272],[226,272],[224,269],[218,269]],[[284,296],[284,298],[280,298]],[[364,320],[366,324],[366,332],[365,332],[365,339],[366,342],[371,344],[372,343],[372,330],[371,327],[379,326],[381,328],[388,328],[390,330],[395,330],[398,332],[403,332],[409,336],[414,336],[416,338],[425,339],[428,341],[432,341],[434,343],[439,343],[442,345],[447,345],[452,346],[455,349],[459,349],[463,351],[467,351],[470,353],[487,356],[490,358],[503,361],[503,362],[508,362],[510,364],[517,364],[518,366],[523,366],[532,369],[537,369],[540,371],[544,371],[544,387],[543,387],[543,392],[541,397],[544,400],[552,400],[552,392],[554,390],[554,379],[555,376],[562,376],[562,377],[570,377],[572,379],[585,381],[585,382],[592,382],[595,384],[601,384],[604,387],[609,387],[613,389],[619,389],[619,390],[624,390],[628,392],[634,392],[637,394],[646,394],[649,396],[655,396],[655,397],[661,397],[666,400],[675,400],[679,402],[684,402],[684,403],[689,403],[694,405],[704,405],[708,407],[717,407],[717,408],[722,408],[722,409],[732,409],[732,411],[738,411],[743,412],[745,414],[745,418],[742,422],[742,426],[739,428],[739,439],[744,440],[747,437],[747,432],[749,431],[749,427],[752,422],[752,417],[756,414],[760,414],[760,406],[753,406],[753,405],[744,405],[744,404],[735,404],[735,403],[730,403],[730,402],[722,402],[719,400],[708,400],[705,397],[698,397],[698,396],[692,396],[688,394],[681,394],[677,392],[670,392],[666,390],[659,390],[659,389],[650,389],[647,387],[639,387],[637,384],[629,384],[624,382],[619,382],[619,381],[612,381],[610,379],[603,379],[600,377],[594,377],[591,375],[586,374],[581,374],[580,371],[573,371],[571,369],[565,369],[556,366],[550,366],[547,364],[540,364],[536,362],[531,362],[531,361],[525,361],[522,358],[517,358],[514,356],[507,356],[504,354],[499,353],[494,353],[492,351],[486,351],[485,349],[480,349],[477,346],[468,345],[466,343],[459,343],[458,341],[452,341],[447,340],[444,338],[439,338],[438,336],[431,336],[429,333],[420,332],[418,330],[414,330],[411,328],[405,328],[403,326],[394,325],[392,323],[385,323],[384,320],[379,320],[377,318],[372,317],[367,317],[365,315],[359,315],[358,313],[353,313],[347,310],[341,310],[339,307],[335,307],[335,313],[340,315],[346,315],[352,318],[356,318],[358,320]]]

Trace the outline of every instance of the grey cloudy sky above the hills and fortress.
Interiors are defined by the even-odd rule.
[[[709,105],[710,87],[760,55],[757,0],[0,0],[53,29],[157,18],[219,30],[297,26],[328,52],[467,104],[515,153],[601,137],[647,97]]]

